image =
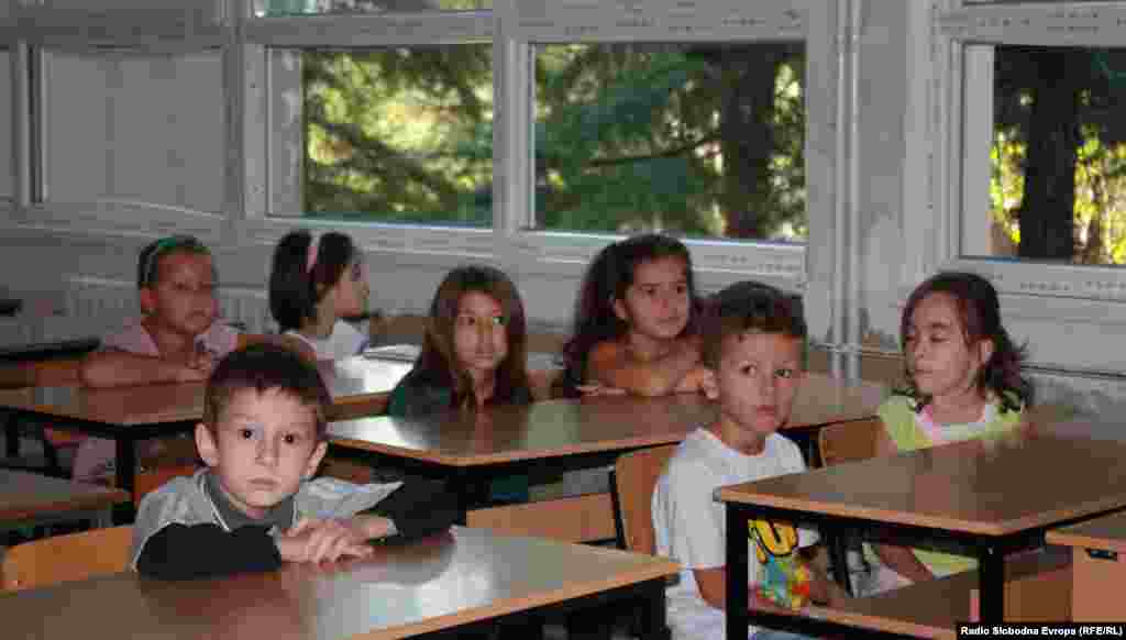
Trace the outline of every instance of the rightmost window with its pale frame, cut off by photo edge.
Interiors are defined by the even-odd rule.
[[[1126,301],[1126,272],[1106,268],[1123,264],[1126,234],[1126,2],[936,5],[937,117],[924,122],[937,215],[909,246],[935,241],[930,269],[984,273],[1002,294]],[[1063,309],[1017,304],[1028,318]]]

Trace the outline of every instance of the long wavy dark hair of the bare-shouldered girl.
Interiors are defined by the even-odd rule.
[[[614,301],[625,297],[638,265],[664,258],[685,261],[689,300],[685,334],[696,331],[699,314],[696,281],[692,259],[683,242],[660,233],[644,233],[613,242],[602,248],[587,267],[575,301],[571,339],[563,346],[563,374],[556,379],[553,394],[574,395],[574,386],[586,382],[590,349],[598,343],[615,340],[629,330],[629,325],[614,312]]]

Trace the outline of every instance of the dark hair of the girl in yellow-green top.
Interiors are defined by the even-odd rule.
[[[977,274],[942,272],[911,292],[900,320],[900,345],[903,350],[906,352],[908,332],[915,308],[932,293],[945,293],[954,297],[967,345],[974,345],[978,340],[993,341],[993,355],[977,374],[975,381],[977,388],[997,393],[1002,414],[1020,410],[1024,405],[1031,405],[1033,384],[1021,375],[1020,371],[1025,359],[1025,347],[1016,346],[1009,332],[1004,330],[1001,325],[1001,303],[997,290]],[[904,358],[904,371],[908,385],[900,392],[914,399],[915,410],[921,411],[930,402],[930,398],[922,395],[915,386],[908,357]]]

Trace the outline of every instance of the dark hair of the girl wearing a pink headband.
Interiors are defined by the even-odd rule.
[[[315,259],[310,264],[313,251]],[[358,256],[351,238],[336,231],[318,237],[306,230],[291,231],[278,240],[270,269],[270,313],[278,328],[301,329],[315,320],[316,303]]]

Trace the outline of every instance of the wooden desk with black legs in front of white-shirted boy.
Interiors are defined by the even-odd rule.
[[[975,555],[981,617],[999,622],[1006,555],[1042,544],[1051,527],[1126,507],[1124,456],[1126,444],[1081,438],[965,442],[725,487],[727,575],[747,575],[748,519],[857,531]],[[744,580],[729,581],[727,602],[747,602]],[[757,617],[729,612],[727,633],[745,629],[749,616]]]

